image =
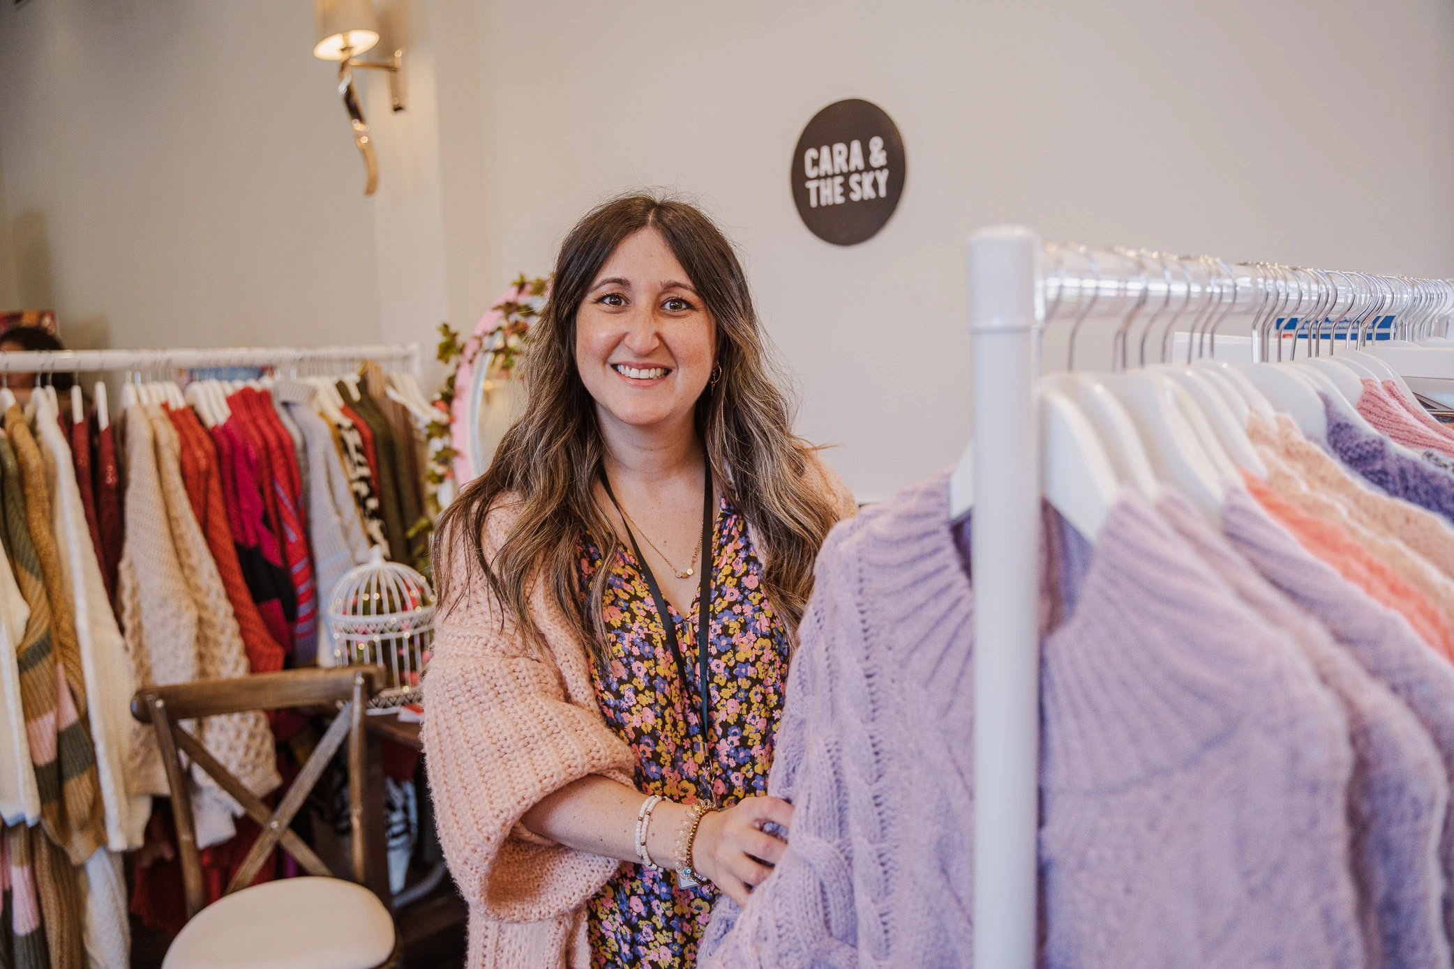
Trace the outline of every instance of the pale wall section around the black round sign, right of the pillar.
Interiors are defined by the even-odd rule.
[[[800,427],[881,498],[968,433],[963,250],[980,225],[1233,259],[1454,272],[1454,9],[1442,0],[1095,4],[481,0],[489,273],[542,270],[634,186],[695,193],[747,256]],[[824,105],[903,132],[871,241],[798,221]]]

